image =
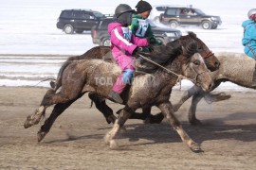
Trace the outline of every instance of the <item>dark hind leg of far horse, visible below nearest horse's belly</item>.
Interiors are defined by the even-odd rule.
[[[117,117],[113,114],[113,110],[106,105],[105,98],[97,93],[89,93],[89,98],[95,103],[95,106],[104,115],[108,124],[114,124]]]

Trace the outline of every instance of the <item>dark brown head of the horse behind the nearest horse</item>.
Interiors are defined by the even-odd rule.
[[[184,44],[188,39],[192,39],[195,42],[197,42],[197,47],[198,47],[198,53],[203,57],[205,60],[205,63],[207,65],[207,68],[213,72],[219,69],[220,66],[220,61],[216,58],[214,53],[210,51],[208,46],[202,42],[199,38],[196,37],[196,34],[193,32],[188,32],[188,35],[186,36],[181,36],[179,39],[179,42],[181,44]]]

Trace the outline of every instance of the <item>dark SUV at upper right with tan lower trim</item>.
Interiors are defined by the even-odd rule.
[[[169,25],[171,28],[177,26],[195,25],[204,29],[216,29],[222,21],[219,16],[206,15],[198,8],[166,8],[160,15],[160,22]]]

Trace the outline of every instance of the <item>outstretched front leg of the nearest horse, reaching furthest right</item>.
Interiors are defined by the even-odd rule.
[[[172,104],[168,101],[168,102],[165,102],[165,103],[162,103],[162,104],[158,105],[157,107],[162,111],[162,113],[165,115],[168,122],[177,131],[177,133],[181,137],[182,141],[185,144],[188,144],[193,152],[201,152],[202,150],[201,150],[199,144],[196,144],[195,142],[192,141],[190,136],[182,128],[180,122],[174,116],[174,110],[173,110]]]

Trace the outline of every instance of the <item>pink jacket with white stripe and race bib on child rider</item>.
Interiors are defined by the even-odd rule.
[[[137,46],[143,47],[149,45],[146,38],[137,38],[128,27],[122,26],[120,23],[109,24],[108,33],[110,35],[110,41],[112,43],[111,49],[115,59],[120,55],[131,56]]]

